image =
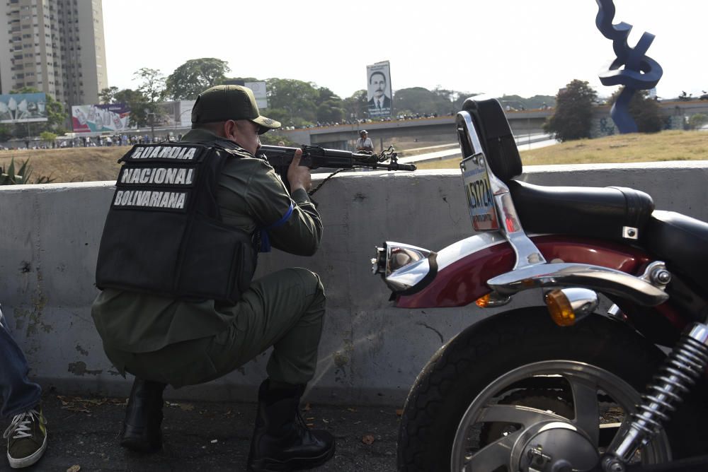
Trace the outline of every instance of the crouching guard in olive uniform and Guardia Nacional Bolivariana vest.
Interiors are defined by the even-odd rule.
[[[273,167],[256,157],[261,146],[258,136],[278,127],[280,123],[261,116],[249,88],[218,85],[198,96],[192,110],[192,129],[176,143],[195,151],[175,152],[185,157],[206,156],[197,164],[194,175],[212,173],[214,179],[197,177],[195,193],[190,198],[208,201],[209,196],[215,196],[217,208],[212,208],[212,214],[217,218],[212,218],[203,232],[221,232],[202,240],[185,236],[187,240],[175,243],[174,247],[183,248],[175,251],[180,256],[199,253],[195,260],[213,261],[203,266],[183,264],[178,272],[184,273],[188,282],[181,293],[157,294],[151,293],[149,287],[131,285],[132,279],[142,278],[144,285],[152,286],[149,278],[131,270],[152,271],[153,265],[164,264],[164,259],[178,257],[164,254],[169,252],[166,247],[141,252],[139,244],[141,235],[149,235],[151,240],[158,234],[181,237],[180,232],[157,227],[159,221],[178,218],[174,215],[180,213],[152,210],[147,197],[132,200],[118,196],[124,188],[119,177],[117,196],[101,238],[96,283],[102,292],[93,303],[92,315],[110,361],[122,374],[135,375],[120,437],[128,449],[154,452],[161,448],[162,394],[166,384],[178,388],[209,382],[273,346],[266,367],[268,378],[258,389],[249,471],[313,468],[334,454],[333,436],[326,431],[309,430],[299,415],[300,398],[314,376],[322,331],[325,296],[319,276],[307,269],[284,269],[251,281],[258,249],[263,252],[272,244],[285,252],[309,256],[316,252],[321,240],[321,219],[307,194],[312,186],[310,171],[299,165],[302,151],[296,151],[287,172],[290,194]],[[196,154],[200,150],[203,153]],[[150,151],[150,155],[163,151]],[[144,147],[136,147],[126,156],[144,152]],[[164,152],[169,155],[169,151]],[[130,159],[126,160],[128,163]],[[165,164],[156,163],[154,167],[159,165]],[[202,194],[203,182],[212,185]],[[202,196],[205,200],[200,200]],[[125,202],[141,207],[120,208]],[[173,208],[181,208],[178,201]],[[127,214],[130,219],[122,220]],[[221,237],[228,240],[231,235],[241,241],[241,250],[234,251],[236,259],[230,252],[213,253],[215,241]],[[169,245],[168,240],[163,243]],[[126,246],[129,250],[122,250]],[[133,253],[142,259],[135,264],[137,269],[125,269],[131,265],[130,258],[136,257]],[[229,269],[239,270],[232,276],[239,279],[236,285],[225,280],[202,280],[214,277],[213,273],[229,273]],[[181,296],[199,295],[195,287],[200,284],[226,285],[224,290],[228,293],[201,300]]]

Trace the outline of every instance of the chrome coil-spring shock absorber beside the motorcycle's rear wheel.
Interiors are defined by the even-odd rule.
[[[615,436],[603,457],[605,471],[622,472],[637,449],[661,432],[676,405],[690,391],[708,364],[708,325],[694,324],[666,358],[666,362],[642,396],[639,411]]]

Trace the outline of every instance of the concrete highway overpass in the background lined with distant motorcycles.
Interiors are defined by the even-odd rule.
[[[708,100],[660,102],[661,112],[668,118],[669,129],[683,129],[683,123],[692,114],[708,114]],[[553,110],[510,110],[506,112],[511,130],[515,136],[539,134],[543,124]],[[435,118],[400,119],[390,122],[370,122],[363,124],[340,124],[316,128],[282,131],[285,136],[300,144],[322,146],[331,149],[350,149],[359,137],[360,129],[369,131],[375,148],[394,140],[455,141],[455,117],[448,115]],[[600,137],[617,134],[610,118],[610,106],[595,107],[593,110],[592,136]]]

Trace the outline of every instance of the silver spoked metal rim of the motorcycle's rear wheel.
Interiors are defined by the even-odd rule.
[[[523,388],[537,381],[555,385]],[[504,402],[507,396],[515,396],[513,403]],[[452,444],[450,470],[589,470],[609,445],[612,435],[603,430],[617,432],[617,415],[629,420],[640,401],[631,385],[594,365],[571,360],[523,365],[498,377],[469,405]],[[485,429],[500,428],[501,435],[484,435]],[[658,464],[670,459],[670,451],[662,433],[635,460]]]

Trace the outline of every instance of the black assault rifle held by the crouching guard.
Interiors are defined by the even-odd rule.
[[[416,166],[413,164],[398,163],[398,155],[393,146],[389,146],[386,151],[382,151],[380,154],[350,153],[339,149],[325,149],[320,146],[302,146],[301,149],[300,165],[306,165],[310,169],[337,169],[332,175],[347,169],[416,170]],[[288,189],[290,189],[290,184],[287,182],[287,167],[295,157],[296,150],[297,148],[285,146],[261,146],[258,149],[259,156],[273,166]],[[329,177],[327,178],[329,179]],[[322,183],[324,184],[324,182]],[[314,194],[321,185],[319,184],[316,189],[310,191],[310,194]]]

